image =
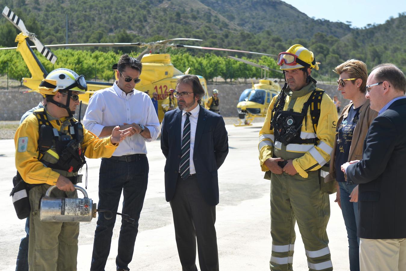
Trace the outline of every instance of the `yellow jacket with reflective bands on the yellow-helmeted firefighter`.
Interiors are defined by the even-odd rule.
[[[287,94],[285,100],[284,111],[293,108],[294,112],[300,113],[303,104],[309,99],[316,85],[311,82],[299,91],[291,91],[289,87],[285,89]],[[320,89],[317,89],[320,90]],[[259,163],[262,171],[268,171],[268,167],[264,164],[268,158],[272,158],[273,149],[282,149],[282,143],[275,141],[274,131],[270,130],[271,112],[274,108],[274,103],[277,96],[275,96],[269,105],[268,112],[266,113],[265,122],[259,132]],[[309,139],[317,136],[320,139],[317,145],[314,144],[288,144],[286,145],[287,152],[296,154],[303,154],[298,158],[293,159],[293,166],[302,178],[307,178],[307,171],[318,170],[330,160],[330,154],[333,150],[335,130],[337,124],[337,109],[334,102],[330,97],[323,93],[322,102],[320,104],[320,119],[317,124],[316,134],[313,130],[311,121],[310,108],[307,111],[307,121],[303,119],[303,126],[301,128],[300,138]],[[285,146],[283,146],[285,147]]]

